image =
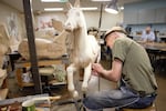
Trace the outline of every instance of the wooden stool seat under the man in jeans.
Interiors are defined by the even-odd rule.
[[[121,109],[121,111],[157,111],[155,103],[153,103],[151,107],[145,108],[145,109],[127,109],[127,108],[123,108]]]

